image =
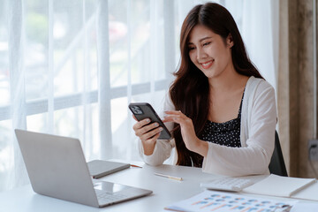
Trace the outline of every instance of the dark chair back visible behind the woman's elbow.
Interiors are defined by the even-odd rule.
[[[269,172],[271,174],[288,177],[277,132],[275,132],[275,148],[269,163]]]

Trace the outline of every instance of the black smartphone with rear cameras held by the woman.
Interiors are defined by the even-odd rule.
[[[130,103],[128,105],[129,109],[133,112],[133,115],[137,118],[138,121],[141,121],[145,118],[150,118],[150,124],[156,122],[161,127],[163,127],[163,131],[159,135],[159,140],[169,140],[171,138],[171,134],[167,127],[163,124],[163,121],[160,117],[156,114],[153,107],[146,102],[136,102]]]

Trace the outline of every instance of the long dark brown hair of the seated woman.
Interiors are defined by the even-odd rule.
[[[256,78],[262,77],[246,54],[244,42],[231,13],[220,4],[196,5],[186,16],[181,28],[181,61],[178,71],[174,73],[176,79],[170,87],[170,98],[176,110],[181,110],[193,120],[195,133],[200,135],[208,120],[210,99],[208,78],[189,57],[189,34],[197,25],[208,27],[215,34],[219,34],[224,41],[231,34],[234,43],[231,47],[231,59],[236,72]],[[186,148],[177,124],[174,127],[174,138],[178,152],[177,164],[201,167],[203,157]]]

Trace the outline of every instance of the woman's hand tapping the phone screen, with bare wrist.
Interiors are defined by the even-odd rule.
[[[193,121],[186,117],[181,111],[165,111],[168,115],[163,122],[175,122],[180,125],[181,135],[186,144],[186,148],[202,156],[208,154],[208,142],[200,140],[194,131]]]

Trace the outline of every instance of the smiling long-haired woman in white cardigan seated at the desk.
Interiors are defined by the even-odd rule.
[[[223,6],[191,10],[181,28],[181,62],[164,104],[161,128],[133,125],[145,163],[162,164],[176,148],[178,165],[227,176],[269,173],[276,128],[275,91],[246,55],[239,29]]]

